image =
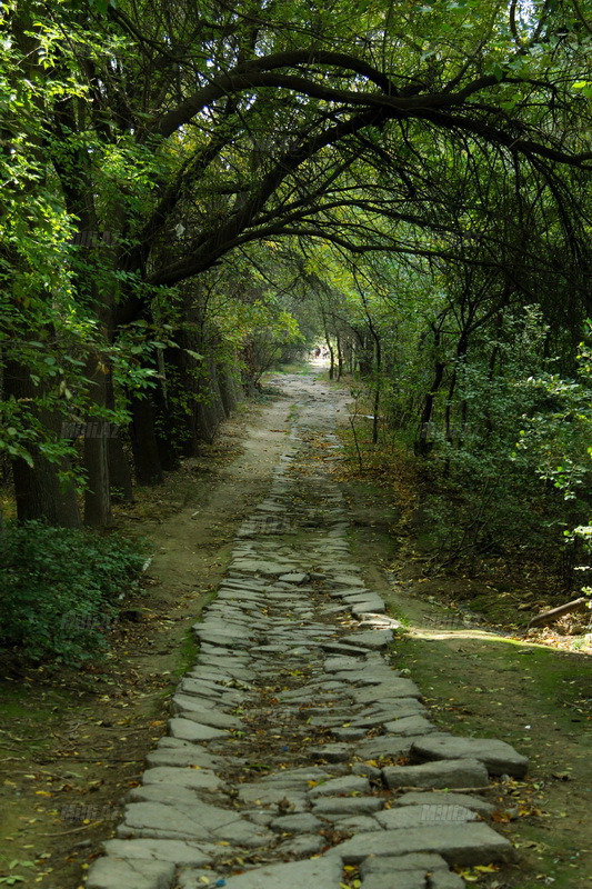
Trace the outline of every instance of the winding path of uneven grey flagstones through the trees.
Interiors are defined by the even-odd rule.
[[[328,471],[338,402],[320,382],[298,386],[269,496],[194,626],[198,663],[88,889],[339,889],[354,877],[458,889],[451,867],[513,858],[483,791],[528,762],[503,741],[438,732],[393,667],[397,621],[352,563]]]

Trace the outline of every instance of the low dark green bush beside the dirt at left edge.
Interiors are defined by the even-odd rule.
[[[137,585],[143,546],[121,537],[8,523],[0,533],[0,642],[19,659],[97,657],[117,598]]]

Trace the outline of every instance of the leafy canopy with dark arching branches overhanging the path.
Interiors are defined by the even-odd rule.
[[[380,218],[430,229],[435,203],[451,230],[491,171],[565,206],[592,167],[576,2],[21,7],[62,179],[86,152],[102,226],[118,196],[128,264],[153,283],[282,233],[394,249]],[[68,113],[63,82],[81,93]]]

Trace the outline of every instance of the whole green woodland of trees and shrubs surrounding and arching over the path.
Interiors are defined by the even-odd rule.
[[[9,562],[23,528],[109,526],[323,342],[429,479],[441,561],[523,548],[589,582],[584,0],[1,16]]]

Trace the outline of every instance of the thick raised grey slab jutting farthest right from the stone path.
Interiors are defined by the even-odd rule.
[[[434,735],[417,741],[411,748],[413,759],[425,760],[479,759],[490,775],[511,775],[523,778],[529,768],[526,757],[505,741],[490,738],[454,738],[452,735]]]

